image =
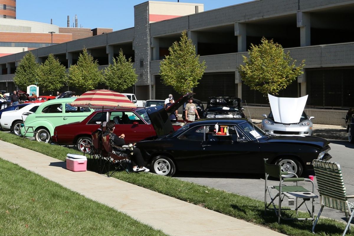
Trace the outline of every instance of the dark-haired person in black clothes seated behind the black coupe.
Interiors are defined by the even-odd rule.
[[[106,124],[106,129],[107,131],[104,133],[105,135],[110,134],[111,136],[111,140],[114,143],[114,145],[117,146],[123,146],[125,145],[124,142],[124,137],[125,134],[121,134],[119,137],[115,135],[115,133],[113,133],[114,131],[114,122],[113,121],[109,121]],[[114,147],[113,147],[114,149]],[[131,151],[130,150],[126,150],[126,151],[122,151],[122,150],[114,150],[116,152],[117,155],[123,155],[123,156],[127,156]],[[138,148],[133,148],[133,155],[131,157],[131,162],[132,162],[132,166],[133,166],[133,171],[134,172],[149,172],[150,170],[146,167],[144,167],[144,159],[143,156],[141,155],[140,149]]]

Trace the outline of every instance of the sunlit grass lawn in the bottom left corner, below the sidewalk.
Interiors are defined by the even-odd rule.
[[[0,159],[0,235],[166,235]]]

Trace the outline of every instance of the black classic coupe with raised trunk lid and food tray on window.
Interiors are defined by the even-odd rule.
[[[319,137],[269,136],[246,119],[206,119],[173,132],[164,109],[148,108],[156,137],[136,144],[152,171],[264,173],[264,158],[299,176],[314,159],[329,160],[329,141]],[[289,174],[291,177],[292,175]]]

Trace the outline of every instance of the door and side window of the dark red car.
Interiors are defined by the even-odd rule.
[[[152,125],[147,125],[133,111],[112,111],[109,120],[115,123],[114,133],[116,135],[125,134],[125,143],[138,142],[156,135]]]

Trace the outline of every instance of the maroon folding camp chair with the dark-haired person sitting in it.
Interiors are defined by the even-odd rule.
[[[128,161],[131,154],[127,156],[120,156],[115,154],[113,147],[121,150],[130,150],[133,151],[133,145],[124,145],[124,146],[115,146],[112,144],[110,134],[102,137],[102,146],[103,149],[107,152],[107,157],[104,158],[105,164],[104,168],[107,169],[107,177],[111,177],[119,168],[124,169],[127,173],[128,171]],[[122,165],[122,162],[125,162],[126,168]],[[113,170],[110,170],[110,167],[113,167]]]

